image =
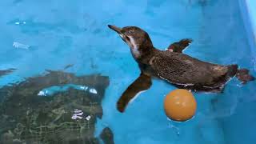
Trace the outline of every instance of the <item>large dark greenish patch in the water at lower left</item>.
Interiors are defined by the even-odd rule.
[[[50,97],[38,96],[48,87],[69,86],[55,91]],[[94,137],[96,118],[102,118],[102,98],[109,78],[101,75],[76,77],[62,71],[45,75],[0,89],[0,135],[3,143],[98,143]],[[79,90],[88,86],[97,90]],[[80,110],[79,119],[72,119]],[[89,118],[90,117],[90,118]],[[109,128],[102,131],[104,142],[113,143]]]

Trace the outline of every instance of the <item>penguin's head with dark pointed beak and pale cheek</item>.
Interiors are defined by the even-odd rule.
[[[122,40],[130,46],[130,50],[135,58],[139,58],[143,51],[153,47],[149,34],[137,26],[126,26],[123,28],[113,25],[108,26],[111,30],[117,32]]]

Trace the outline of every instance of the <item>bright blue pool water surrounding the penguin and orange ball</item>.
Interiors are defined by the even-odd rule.
[[[163,111],[165,94],[175,88],[154,80],[150,90],[120,114],[115,103],[139,70],[128,46],[107,24],[139,26],[162,50],[181,38],[193,38],[186,54],[207,62],[237,63],[256,74],[238,0],[2,0],[0,70],[17,70],[2,77],[0,85],[73,64],[66,71],[110,77],[95,135],[109,126],[114,142],[122,144],[255,142],[255,82],[241,86],[233,79],[222,94],[194,94],[197,114],[175,123]],[[14,42],[29,48],[15,48]]]

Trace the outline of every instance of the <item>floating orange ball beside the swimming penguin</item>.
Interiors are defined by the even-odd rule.
[[[170,119],[184,122],[194,116],[197,102],[189,90],[177,89],[166,95],[164,109]]]

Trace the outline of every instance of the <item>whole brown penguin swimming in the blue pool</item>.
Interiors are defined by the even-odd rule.
[[[153,46],[149,34],[137,26],[108,27],[117,32],[130,47],[141,70],[139,77],[118,99],[117,109],[120,112],[124,112],[137,94],[150,88],[152,78],[163,79],[178,88],[203,92],[222,92],[226,82],[234,76],[243,84],[254,80],[249,70],[239,70],[236,64],[223,66],[183,54],[182,51],[192,42],[190,38],[174,42],[167,50],[158,50]]]

